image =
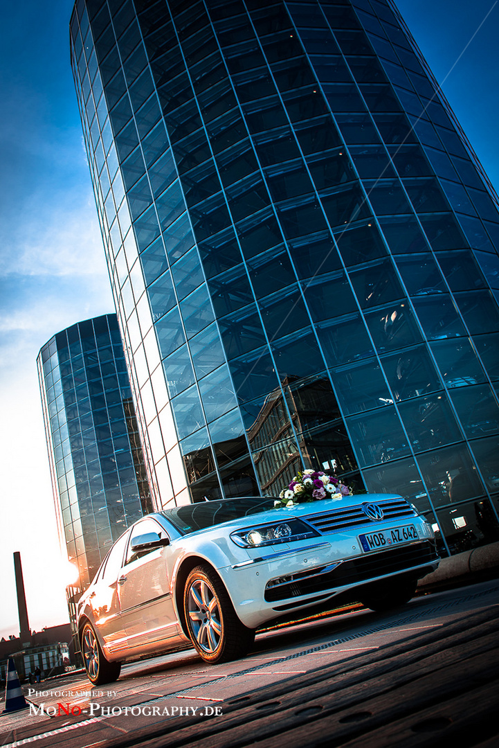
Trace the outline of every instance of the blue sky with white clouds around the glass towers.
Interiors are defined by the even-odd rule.
[[[398,6],[499,188],[498,2]],[[19,632],[13,551],[31,628],[67,620],[36,358],[59,330],[113,310],[69,66],[71,9],[0,9],[0,637]]]

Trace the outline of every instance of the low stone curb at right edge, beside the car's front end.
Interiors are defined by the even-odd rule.
[[[470,577],[471,580],[481,574],[499,576],[499,542],[441,559],[436,571],[419,580],[418,589],[452,580],[457,582],[465,577]]]

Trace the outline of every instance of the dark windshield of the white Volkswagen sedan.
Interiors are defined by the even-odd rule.
[[[273,509],[274,497],[249,496],[220,501],[203,501],[198,504],[176,506],[175,509],[164,509],[161,512],[175,525],[182,535],[213,527],[215,524],[229,522],[232,519],[247,517],[258,512]]]

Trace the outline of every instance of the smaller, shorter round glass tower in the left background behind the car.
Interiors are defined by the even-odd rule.
[[[152,500],[116,315],[58,333],[37,366],[58,530],[79,573],[68,591],[74,623],[75,595]]]

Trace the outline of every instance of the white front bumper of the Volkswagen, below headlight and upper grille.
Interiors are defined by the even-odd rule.
[[[439,561],[433,533],[423,518],[411,518],[411,524],[419,540],[388,550],[363,553],[356,533],[324,534],[314,544],[309,539],[262,548],[266,552],[260,554],[255,549],[250,560],[219,573],[241,621],[258,628],[371,581],[407,573],[421,578],[433,571]]]

